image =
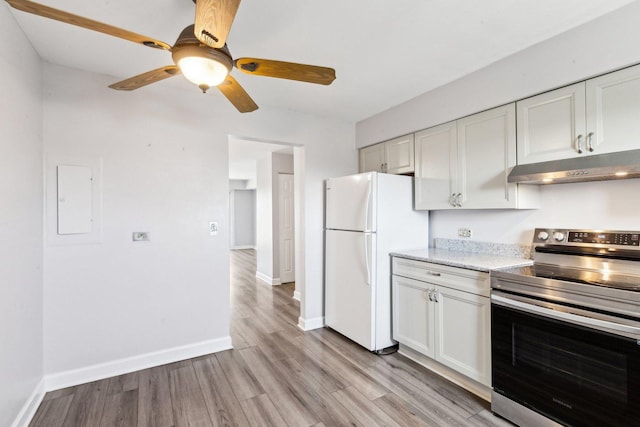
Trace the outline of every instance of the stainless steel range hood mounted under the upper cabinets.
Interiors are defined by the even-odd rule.
[[[561,184],[628,178],[640,178],[640,150],[517,165],[511,170],[508,181]]]

